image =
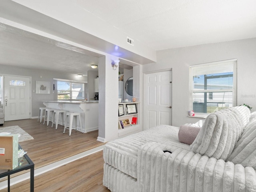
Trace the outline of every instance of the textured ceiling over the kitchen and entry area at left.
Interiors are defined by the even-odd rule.
[[[98,57],[88,51],[0,24],[0,64],[84,74]],[[1,72],[0,72],[1,73]]]

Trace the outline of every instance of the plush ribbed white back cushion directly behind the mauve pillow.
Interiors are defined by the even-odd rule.
[[[226,160],[242,135],[249,118],[250,110],[245,106],[231,107],[208,115],[190,150]]]

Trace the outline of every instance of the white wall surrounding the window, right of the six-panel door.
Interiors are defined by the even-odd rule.
[[[188,117],[188,66],[237,58],[237,104],[256,110],[256,38],[168,49],[157,52],[157,63],[143,66],[143,73],[172,68],[172,125],[194,123]]]

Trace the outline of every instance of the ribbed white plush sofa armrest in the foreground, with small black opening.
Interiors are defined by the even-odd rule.
[[[216,160],[180,148],[151,142],[138,153],[140,192],[238,192],[256,191],[256,172],[252,167]]]

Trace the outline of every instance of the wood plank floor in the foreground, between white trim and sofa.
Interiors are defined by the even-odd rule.
[[[102,151],[35,177],[35,192],[110,192],[102,185]],[[28,192],[29,180],[11,186],[12,192]],[[6,190],[0,190],[6,192]]]

